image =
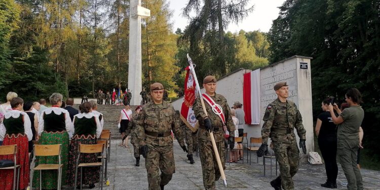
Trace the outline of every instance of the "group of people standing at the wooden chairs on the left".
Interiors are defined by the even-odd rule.
[[[17,165],[20,165],[19,189],[26,189],[29,184],[30,153],[33,141],[38,144],[61,144],[62,178],[61,185],[80,188],[80,180],[74,184],[75,166],[78,159],[79,144],[96,144],[103,128],[102,114],[97,110],[97,102],[89,101],[80,105],[80,110],[72,107],[73,99],[63,101],[62,94],[53,93],[50,98],[51,107],[46,107],[46,100],[31,102],[24,100],[15,92],[9,92],[7,102],[0,105],[0,143],[17,145]],[[65,105],[65,106],[63,106]],[[12,160],[12,155],[0,156],[1,159]],[[82,154],[81,163],[97,162],[96,154]],[[39,164],[56,164],[57,157],[37,157],[35,166]],[[99,169],[83,170],[83,184],[95,187],[99,182]],[[80,174],[81,175],[81,174]],[[57,189],[57,172],[52,170],[34,171],[33,187]],[[0,173],[0,189],[12,189],[13,171],[3,170]],[[30,188],[31,189],[31,188]]]

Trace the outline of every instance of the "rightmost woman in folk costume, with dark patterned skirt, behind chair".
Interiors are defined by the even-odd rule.
[[[96,139],[100,137],[102,127],[100,126],[99,116],[92,113],[90,102],[82,104],[81,113],[74,116],[74,135],[70,143],[70,154],[68,161],[68,181],[70,186],[81,184],[81,172],[78,172],[77,184],[75,181],[75,164],[78,159],[79,144],[96,144]],[[98,162],[96,154],[81,154],[80,163]],[[88,184],[90,188],[95,187],[99,182],[99,167],[83,168],[83,183]]]

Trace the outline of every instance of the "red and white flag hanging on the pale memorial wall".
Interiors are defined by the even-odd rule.
[[[258,125],[260,123],[260,69],[244,74],[243,108],[245,123]]]

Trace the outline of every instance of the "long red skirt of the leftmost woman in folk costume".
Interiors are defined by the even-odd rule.
[[[20,166],[20,186],[19,189],[24,189],[29,183],[29,154],[28,154],[28,137],[24,134],[5,135],[3,145],[17,144],[17,165]],[[2,155],[0,159],[12,160],[13,155]],[[17,172],[17,171],[16,171]],[[17,173],[16,173],[17,175]],[[17,183],[17,179],[16,179]],[[2,170],[0,172],[0,190],[11,190],[13,188],[13,170]]]

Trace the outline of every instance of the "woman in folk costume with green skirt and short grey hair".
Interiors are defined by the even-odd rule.
[[[62,168],[62,185],[67,184],[67,155],[69,138],[72,136],[72,123],[70,115],[66,109],[61,108],[62,94],[53,93],[50,96],[52,107],[42,111],[39,123],[40,144],[62,144],[61,149],[61,164]],[[37,158],[37,164],[57,164],[57,157],[41,157]],[[35,188],[40,188],[40,174],[34,173],[33,185]],[[57,171],[44,170],[42,171],[42,188],[56,189],[57,188]]]

